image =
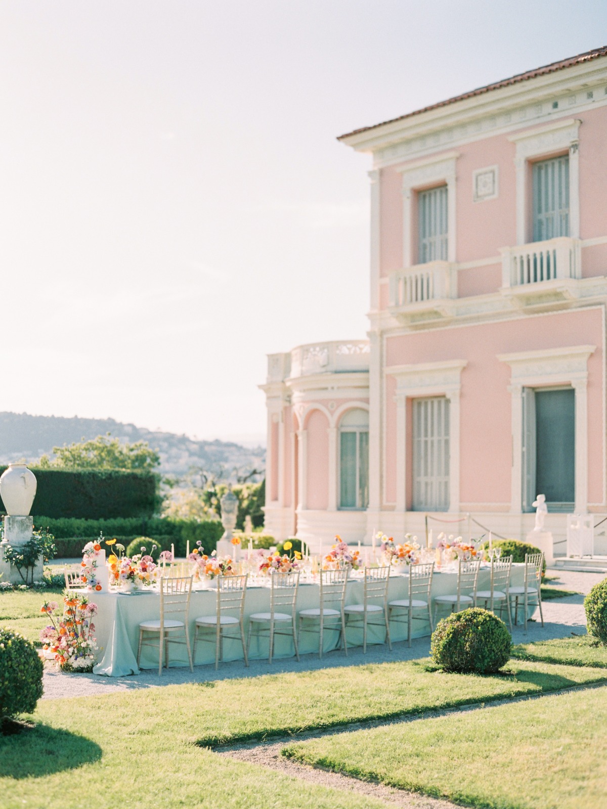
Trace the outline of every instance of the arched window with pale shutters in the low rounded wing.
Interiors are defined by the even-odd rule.
[[[339,507],[369,505],[369,414],[348,410],[339,425]]]

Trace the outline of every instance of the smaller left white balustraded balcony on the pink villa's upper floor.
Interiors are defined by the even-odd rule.
[[[449,261],[397,269],[389,278],[390,311],[410,324],[452,316],[456,297],[457,268]]]

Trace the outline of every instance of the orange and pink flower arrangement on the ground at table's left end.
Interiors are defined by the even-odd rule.
[[[97,605],[82,593],[67,591],[63,598],[62,620],[57,618],[58,609],[56,601],[45,601],[42,605],[40,612],[51,621],[40,632],[42,648],[53,654],[63,671],[92,671],[97,651],[92,618]]]

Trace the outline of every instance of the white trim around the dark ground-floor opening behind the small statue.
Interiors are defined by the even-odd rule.
[[[512,479],[511,512],[523,508],[523,388],[571,385],[575,389],[575,513],[588,510],[588,358],[596,345],[498,354],[511,369]]]

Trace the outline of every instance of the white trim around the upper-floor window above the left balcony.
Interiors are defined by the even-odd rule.
[[[403,267],[413,267],[418,262],[413,259],[413,218],[411,216],[412,193],[433,184],[447,184],[447,260],[456,260],[456,160],[458,152],[418,160],[408,166],[397,168],[402,176],[402,263]]]

